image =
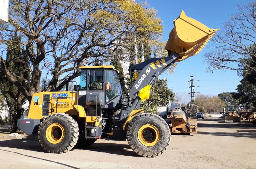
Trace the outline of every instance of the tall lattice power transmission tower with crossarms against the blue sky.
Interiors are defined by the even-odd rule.
[[[188,93],[188,94],[191,94],[191,101],[188,103],[189,105],[189,115],[190,115],[190,118],[194,118],[196,119],[196,103],[195,103],[195,93],[199,93],[199,92],[195,92],[194,91],[194,87],[199,87],[199,86],[195,86],[193,81],[196,80],[196,79],[193,79],[194,76],[190,76],[190,80],[188,82],[190,82],[190,88],[191,89],[191,92]],[[197,80],[198,81],[198,80]]]

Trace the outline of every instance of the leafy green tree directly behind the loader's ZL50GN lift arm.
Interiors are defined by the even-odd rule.
[[[167,79],[157,79],[150,89],[149,99],[142,102],[141,109],[156,114],[157,106],[167,105],[174,100],[174,93],[167,86]]]

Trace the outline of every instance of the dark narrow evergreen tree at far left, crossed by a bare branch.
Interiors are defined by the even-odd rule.
[[[5,66],[10,73],[19,77],[17,81],[23,85],[24,88],[27,88],[28,86],[26,86],[25,80],[30,80],[30,73],[27,64],[24,64],[24,62],[28,62],[28,57],[26,52],[20,51],[20,39],[17,33],[15,33],[12,40],[9,41]],[[9,110],[9,121],[12,132],[16,133],[18,129],[17,121],[24,112],[23,105],[27,99],[20,89],[6,78],[2,72],[0,72],[0,93],[4,96]]]

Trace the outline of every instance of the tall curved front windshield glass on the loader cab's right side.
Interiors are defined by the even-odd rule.
[[[118,80],[118,81],[117,81]],[[122,97],[120,82],[116,72],[113,70],[106,70],[106,102],[115,99],[117,96]]]

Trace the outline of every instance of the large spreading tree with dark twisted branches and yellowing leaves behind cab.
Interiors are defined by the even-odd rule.
[[[116,59],[111,51],[119,46],[131,50],[134,36],[152,42],[162,35],[157,11],[133,0],[10,0],[9,7],[10,24],[2,25],[0,42],[8,45],[18,31],[31,80],[12,73],[2,56],[0,70],[29,101],[41,92],[42,74],[51,75],[45,91],[59,91],[65,77],[79,75],[80,66],[99,60],[109,64]]]

